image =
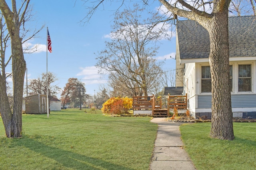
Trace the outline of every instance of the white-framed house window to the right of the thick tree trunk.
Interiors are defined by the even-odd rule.
[[[251,64],[238,65],[238,91],[252,91]]]

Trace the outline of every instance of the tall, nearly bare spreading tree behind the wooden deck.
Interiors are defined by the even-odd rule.
[[[96,58],[96,67],[101,72],[111,72],[109,85],[112,88],[125,87],[129,89],[130,95],[141,90],[146,96],[154,87],[156,77],[160,77],[162,73],[162,63],[153,58],[158,49],[157,43],[170,37],[167,29],[156,24],[157,16],[143,20],[141,12],[142,9],[136,5],[134,10],[116,13],[112,40],[105,42],[106,49]]]

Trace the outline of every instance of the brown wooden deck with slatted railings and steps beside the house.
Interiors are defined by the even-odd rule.
[[[151,115],[154,117],[169,117],[174,107],[187,110],[187,95],[168,95],[167,108],[162,105],[162,98],[153,96],[134,96],[132,109],[134,115]]]

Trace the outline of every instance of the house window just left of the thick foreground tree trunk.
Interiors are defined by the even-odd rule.
[[[202,66],[202,77],[201,77],[201,92],[211,92],[212,90],[212,81],[211,81],[211,72],[210,66]]]

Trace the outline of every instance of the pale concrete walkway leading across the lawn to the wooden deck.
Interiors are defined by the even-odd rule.
[[[196,170],[187,152],[183,149],[180,124],[166,121],[165,118],[153,118],[158,131],[150,162],[150,170]]]

